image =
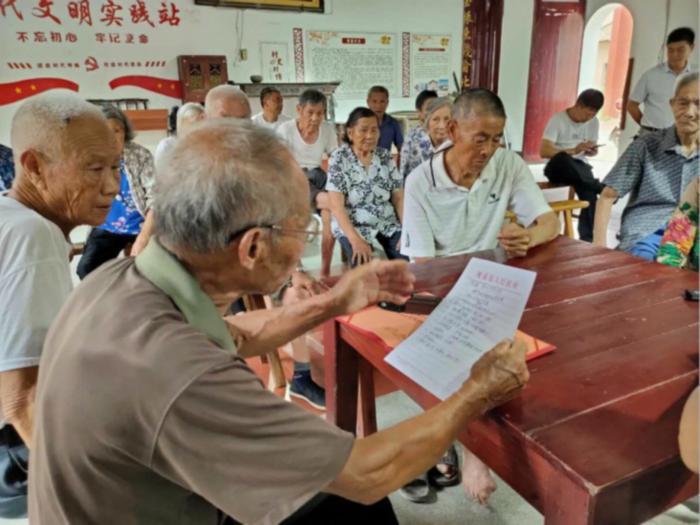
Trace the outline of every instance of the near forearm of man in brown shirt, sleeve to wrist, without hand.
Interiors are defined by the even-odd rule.
[[[457,433],[488,408],[471,381],[431,410],[357,439],[341,475],[327,492],[370,504],[435,465]]]

